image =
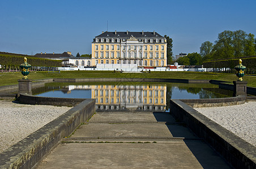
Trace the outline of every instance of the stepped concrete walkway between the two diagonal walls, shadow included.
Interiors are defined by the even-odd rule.
[[[229,168],[169,113],[98,112],[37,168]]]

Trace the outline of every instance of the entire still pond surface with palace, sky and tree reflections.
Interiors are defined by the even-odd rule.
[[[36,88],[33,95],[95,99],[98,110],[157,110],[169,109],[170,99],[211,99],[231,97],[233,92],[215,84],[185,83],[48,83]]]

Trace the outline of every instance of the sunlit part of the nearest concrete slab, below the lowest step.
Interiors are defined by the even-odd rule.
[[[203,168],[184,142],[61,144],[37,168]]]

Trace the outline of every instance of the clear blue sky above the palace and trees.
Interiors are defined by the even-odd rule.
[[[0,51],[91,54],[102,31],[153,32],[173,39],[173,55],[199,52],[224,30],[256,35],[255,0],[0,0]]]

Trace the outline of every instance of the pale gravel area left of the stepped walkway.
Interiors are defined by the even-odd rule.
[[[71,107],[25,105],[0,100],[0,153],[69,109]]]

